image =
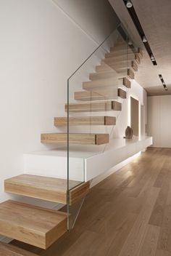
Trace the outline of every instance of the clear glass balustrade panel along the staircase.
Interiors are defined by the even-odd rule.
[[[114,125],[136,68],[136,52],[120,24],[67,80],[68,230],[86,196],[81,187],[88,181],[86,158],[112,146]],[[70,190],[71,181],[76,184],[75,193]],[[71,206],[72,196],[78,199],[73,199],[75,204]]]

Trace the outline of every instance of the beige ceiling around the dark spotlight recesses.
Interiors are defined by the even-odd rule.
[[[128,25],[130,36],[143,49],[143,59],[138,73],[135,74],[136,81],[146,89],[148,95],[171,94],[171,0],[132,0],[157,66],[151,63],[123,1],[109,0],[109,2],[122,23]],[[159,79],[160,73],[167,85],[167,92]]]

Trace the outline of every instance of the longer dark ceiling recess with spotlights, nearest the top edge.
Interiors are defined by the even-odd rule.
[[[146,47],[146,51],[149,54],[151,62],[153,63],[153,65],[157,65],[157,62],[156,62],[156,60],[154,58],[154,55],[153,55],[153,52],[151,51],[151,47],[149,46],[149,42],[146,39],[146,35],[143,32],[143,28],[141,26],[141,23],[138,19],[138,16],[137,16],[136,12],[135,12],[135,9],[133,7],[133,3],[130,0],[123,0],[123,1],[124,1],[124,4],[125,4],[125,7],[128,9],[130,17],[132,18],[133,23],[135,24],[135,27],[136,27],[139,35],[141,36],[141,40],[143,41],[143,44]]]

